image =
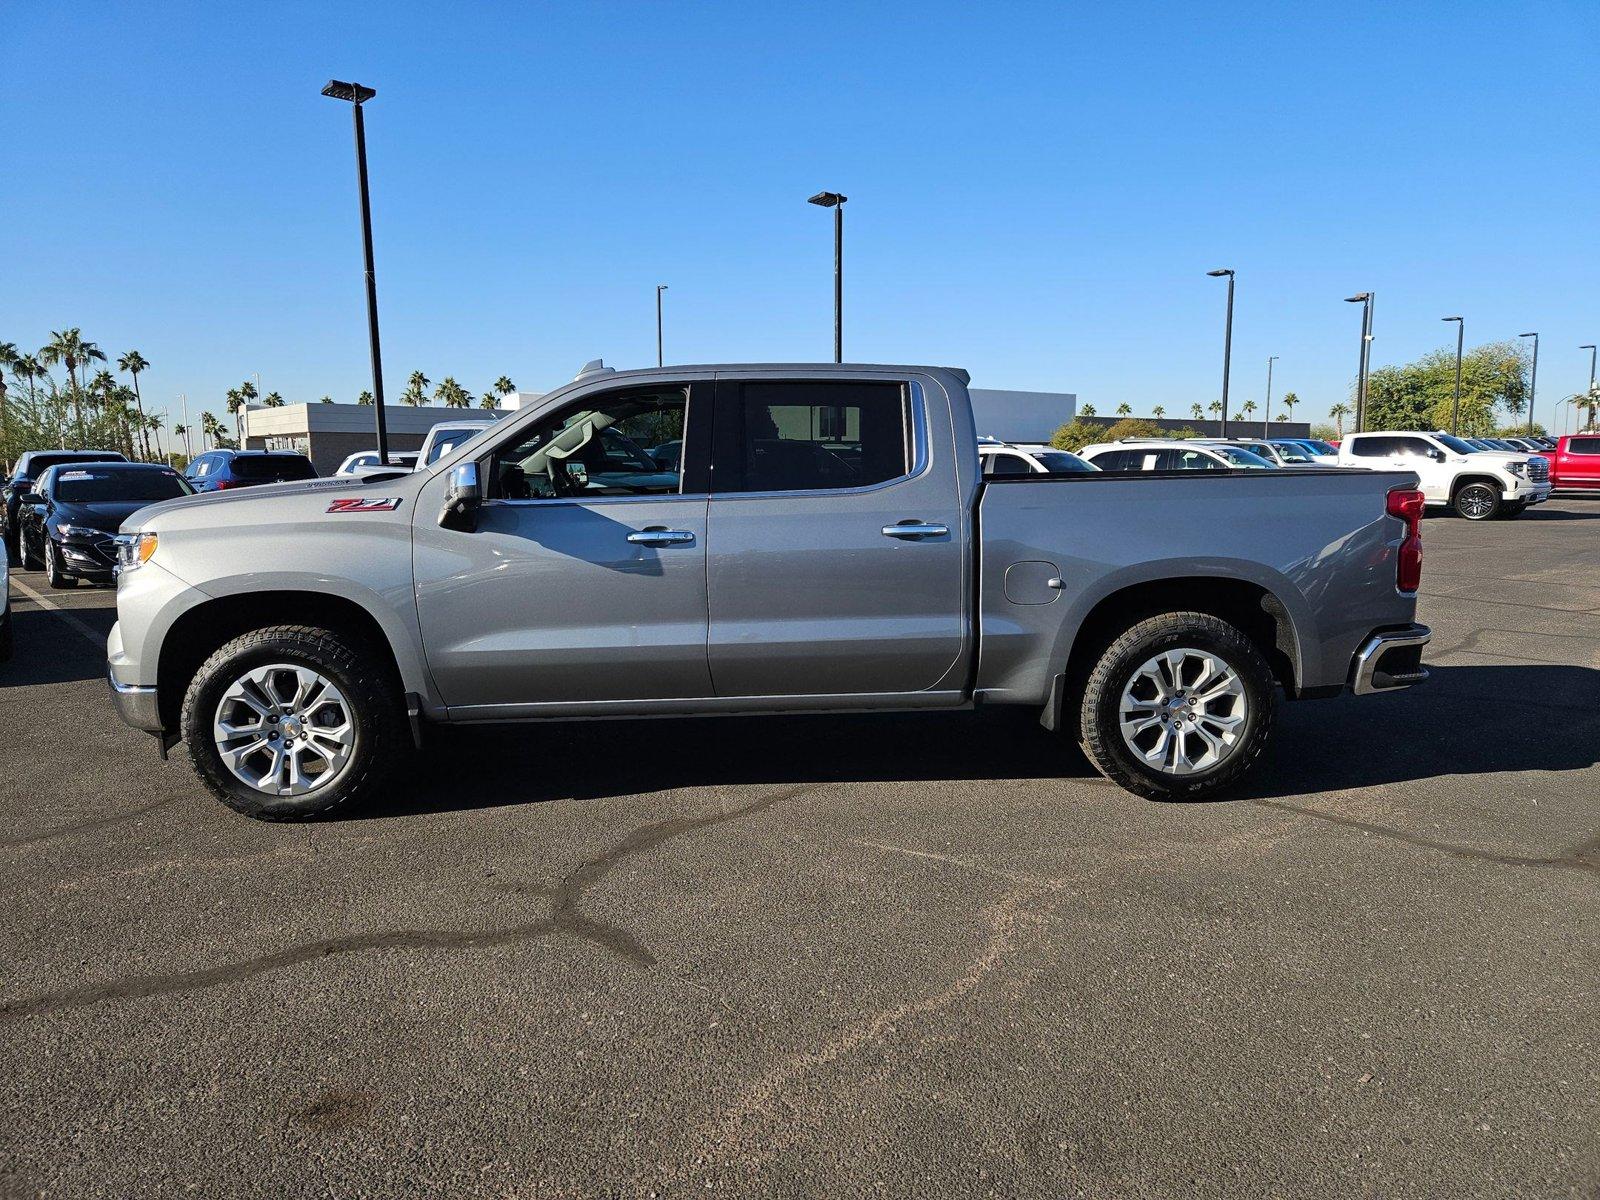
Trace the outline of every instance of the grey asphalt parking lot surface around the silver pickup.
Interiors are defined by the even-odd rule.
[[[0,1194],[1600,1194],[1600,501],[1160,805],[1026,717],[448,731],[254,824],[13,576]],[[45,608],[35,595],[46,595]]]

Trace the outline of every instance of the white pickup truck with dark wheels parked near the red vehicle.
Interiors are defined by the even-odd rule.
[[[1472,522],[1515,517],[1550,498],[1547,458],[1478,450],[1443,432],[1350,434],[1339,443],[1339,466],[1414,470],[1430,507],[1451,507]]]

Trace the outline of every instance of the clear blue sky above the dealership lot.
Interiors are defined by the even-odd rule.
[[[138,347],[157,405],[366,387],[349,109],[368,106],[390,397],[592,357],[962,365],[1109,413],[1219,390],[1318,419],[1354,374],[1600,338],[1600,5],[206,3],[0,14],[0,341]]]

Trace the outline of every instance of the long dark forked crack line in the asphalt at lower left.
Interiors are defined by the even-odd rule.
[[[598,883],[618,862],[654,850],[662,842],[707,829],[725,821],[736,821],[752,816],[773,805],[794,800],[814,790],[814,784],[790,787],[782,792],[752,800],[747,805],[726,811],[709,813],[698,818],[672,818],[656,821],[635,829],[614,846],[594,859],[581,862],[570,870],[555,888],[523,888],[525,894],[547,896],[550,915],[539,920],[522,922],[499,930],[389,930],[382,933],[357,933],[339,938],[322,938],[314,942],[302,942],[272,954],[243,958],[222,966],[206,966],[197,971],[173,971],[163,974],[136,974],[90,987],[75,987],[61,992],[24,997],[8,1003],[0,1003],[0,1022],[18,1021],[27,1016],[43,1016],[74,1008],[104,1003],[107,1000],[142,1000],[152,995],[173,995],[178,992],[195,992],[206,987],[238,982],[258,974],[277,971],[285,966],[330,958],[342,954],[360,954],[363,950],[392,949],[486,949],[494,946],[512,946],[525,941],[536,941],[550,934],[573,934],[603,950],[611,950],[635,966],[654,966],[651,955],[634,934],[626,930],[602,922],[586,914],[581,907],[584,893]]]

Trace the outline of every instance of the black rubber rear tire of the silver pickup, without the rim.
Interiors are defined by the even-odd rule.
[[[1245,699],[1245,720],[1227,754],[1187,774],[1146,763],[1122,734],[1123,690],[1146,662],[1174,650],[1203,651],[1221,659],[1237,675]],[[1134,795],[1197,800],[1232,787],[1256,765],[1272,736],[1275,709],[1272,667],[1238,627],[1210,613],[1162,613],[1115,638],[1090,672],[1080,714],[1083,754],[1101,774]],[[1163,738],[1166,731],[1157,730],[1155,736]]]

